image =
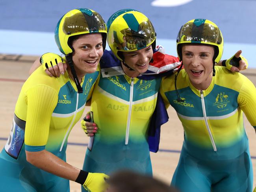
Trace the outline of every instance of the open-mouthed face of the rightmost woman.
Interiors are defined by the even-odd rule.
[[[192,85],[198,90],[205,90],[211,84],[213,72],[213,46],[182,46],[182,62]]]

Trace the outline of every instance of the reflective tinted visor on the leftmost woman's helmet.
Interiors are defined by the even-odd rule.
[[[66,35],[74,33],[97,33],[106,31],[106,25],[103,18],[98,13],[93,12],[92,15],[85,13],[76,13],[71,17],[66,17],[63,23],[63,32]]]

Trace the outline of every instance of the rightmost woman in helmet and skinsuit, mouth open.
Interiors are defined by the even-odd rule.
[[[222,52],[223,37],[216,24],[206,19],[187,22],[177,37],[184,69],[165,78],[160,89],[184,128],[171,183],[181,192],[252,191],[243,112],[256,128],[256,88],[242,74],[215,66]]]

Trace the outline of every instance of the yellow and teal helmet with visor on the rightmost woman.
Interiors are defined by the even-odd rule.
[[[184,43],[208,44],[215,47],[213,62],[219,63],[223,54],[223,37],[218,26],[207,19],[193,19],[186,22],[177,36],[177,53],[182,60],[181,45]]]

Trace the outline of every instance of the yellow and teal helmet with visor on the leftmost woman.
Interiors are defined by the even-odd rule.
[[[68,43],[69,37],[87,33],[102,33],[102,46],[105,49],[107,26],[100,14],[91,9],[73,9],[59,20],[55,30],[55,41],[59,50],[68,55],[73,52]]]

